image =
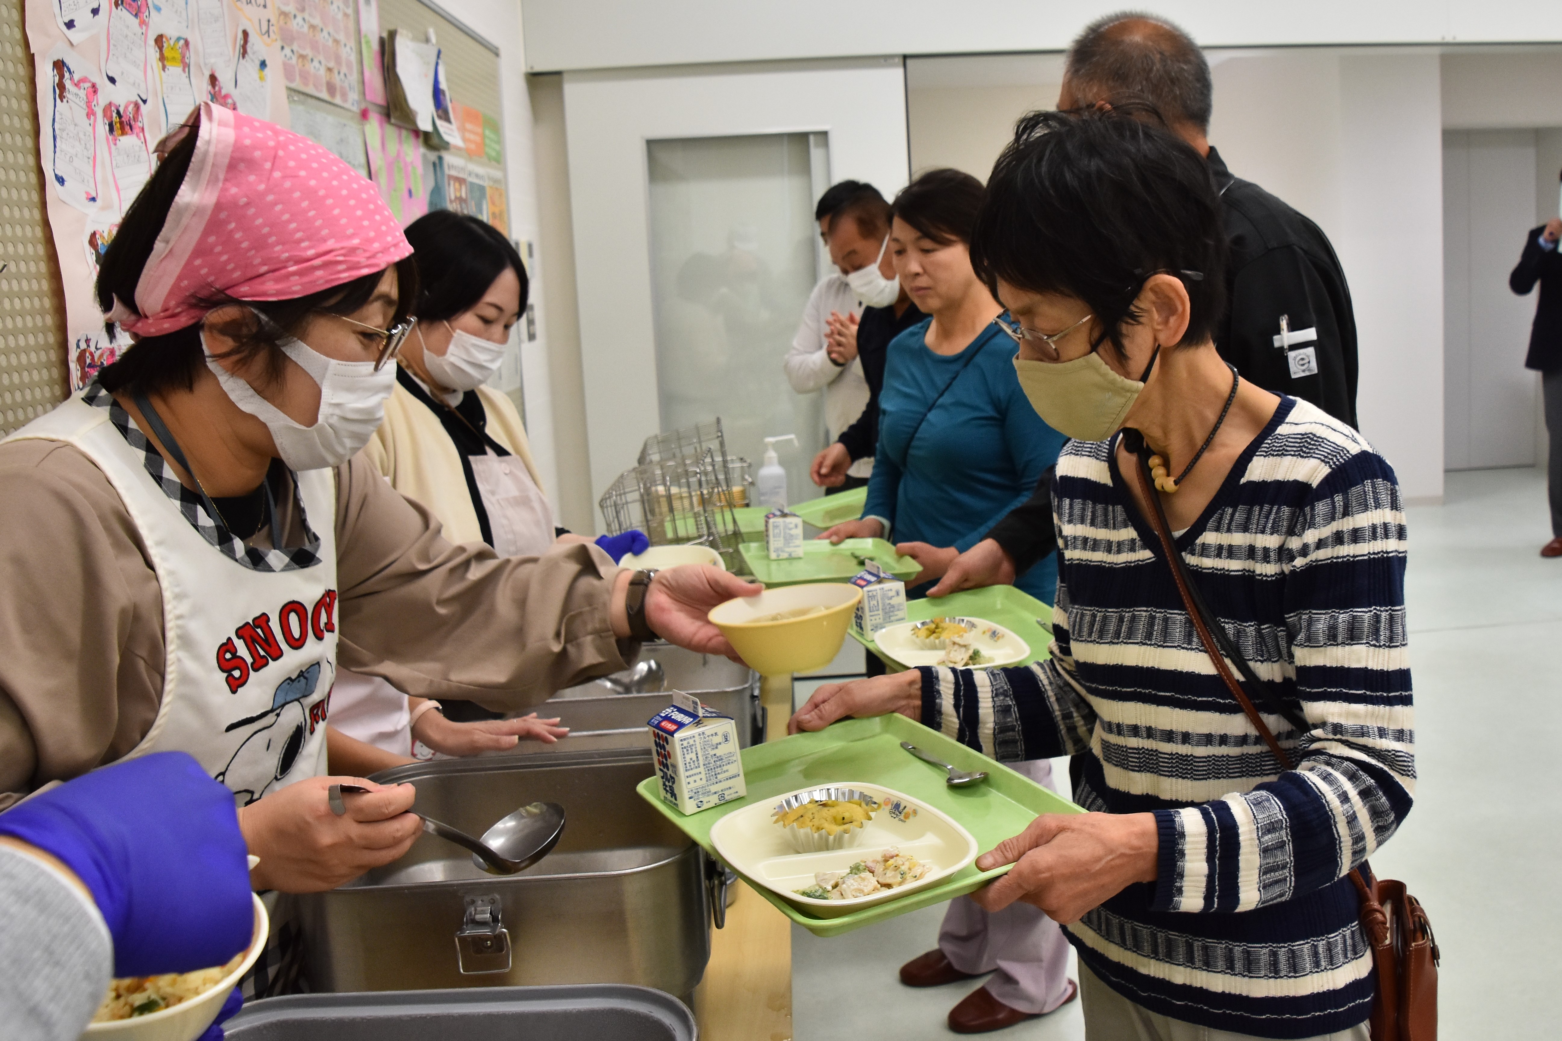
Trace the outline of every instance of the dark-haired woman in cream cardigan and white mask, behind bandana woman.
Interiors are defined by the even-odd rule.
[[[426,506],[456,543],[503,557],[539,556],[559,534],[511,400],[486,385],[526,309],[526,268],[503,234],[451,211],[406,228],[419,270],[417,326],[397,354],[395,390],[364,457],[401,495]],[[505,719],[472,701],[408,699],[386,680],[344,671],[331,696],[344,734],[395,755],[419,741],[444,755],[553,741],[558,719]],[[422,754],[428,754],[426,751]]]

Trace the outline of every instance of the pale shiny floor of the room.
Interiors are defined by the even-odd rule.
[[[1546,538],[1535,470],[1451,473],[1443,506],[1410,510],[1421,780],[1375,866],[1407,880],[1432,916],[1445,1038],[1556,1036],[1546,1010],[1562,969],[1562,559],[1537,556]],[[798,1041],[953,1036],[943,1016],[973,986],[917,991],[895,979],[934,946],[940,918],[926,908],[834,940],[793,926]],[[1078,1041],[1084,1024],[1076,1002],[995,1036]]]

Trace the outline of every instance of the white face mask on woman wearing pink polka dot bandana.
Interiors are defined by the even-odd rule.
[[[206,337],[201,336],[201,346]],[[266,423],[276,442],[276,454],[294,470],[325,470],[341,467],[369,443],[386,415],[386,398],[395,390],[395,365],[375,371],[373,362],[339,362],[326,357],[303,340],[287,337],[283,354],[298,362],[309,378],[320,384],[320,412],[314,426],[301,426],[256,393],[255,387],[223,368],[206,351],[206,368],[228,398]]]

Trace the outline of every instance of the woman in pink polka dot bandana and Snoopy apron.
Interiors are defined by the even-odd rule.
[[[177,749],[236,794],[258,890],[405,854],[406,762],[334,735],[337,660],[423,698],[526,709],[751,592],[594,545],[500,559],[362,457],[411,328],[412,248],[325,148],[203,105],[125,214],[98,300],[136,343],[0,445],[0,810]],[[370,788],[345,815],[326,788]],[[148,807],[148,812],[155,812]]]

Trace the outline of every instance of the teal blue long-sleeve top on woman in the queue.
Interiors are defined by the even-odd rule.
[[[1057,462],[1064,435],[1026,401],[1014,375],[1018,348],[997,325],[987,325],[951,356],[928,350],[923,337],[929,325],[931,318],[890,340],[862,517],[887,520],[892,531],[886,537],[895,542],[965,552],[1031,496],[1042,471]],[[1051,604],[1057,554],[1043,557],[1014,584]],[[909,592],[917,596],[926,588],[923,584]]]

